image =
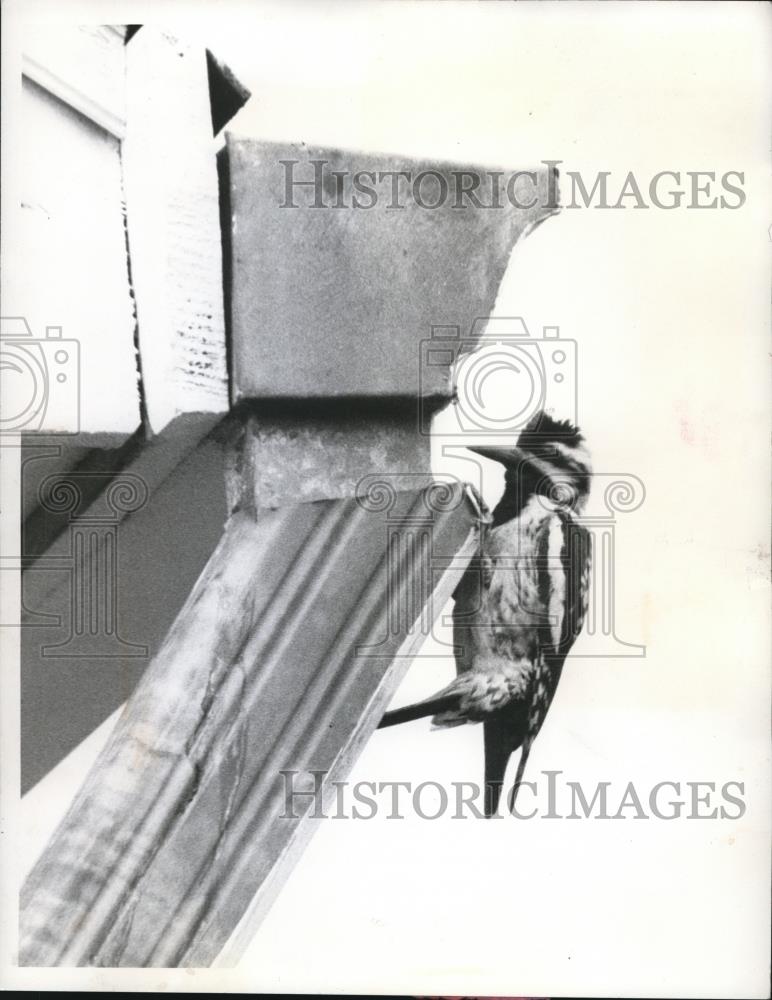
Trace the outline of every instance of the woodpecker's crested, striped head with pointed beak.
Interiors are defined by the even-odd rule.
[[[471,451],[500,462],[508,489],[539,493],[558,506],[581,513],[590,494],[590,453],[579,429],[540,410],[514,446],[472,446]]]

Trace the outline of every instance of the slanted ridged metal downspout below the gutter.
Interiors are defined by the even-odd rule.
[[[204,966],[241,921],[235,956],[310,832],[281,772],[345,776],[475,529],[439,485],[232,518],[25,885],[22,964]]]

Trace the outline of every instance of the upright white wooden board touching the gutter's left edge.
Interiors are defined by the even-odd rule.
[[[219,181],[205,48],[146,25],[126,54],[129,253],[157,433],[229,406]]]

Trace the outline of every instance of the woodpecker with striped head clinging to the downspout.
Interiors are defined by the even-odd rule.
[[[590,493],[578,428],[539,411],[514,447],[473,447],[501,462],[505,487],[480,556],[453,595],[456,679],[387,712],[379,728],[433,716],[437,727],[483,723],[485,815],[494,815],[509,759],[520,749],[514,808],[533,741],[587,610],[591,542],[577,519]]]

